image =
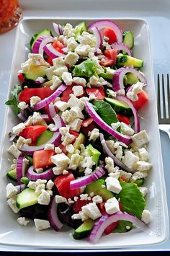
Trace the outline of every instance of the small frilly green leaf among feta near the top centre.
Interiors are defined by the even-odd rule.
[[[86,76],[91,77],[96,72],[95,63],[89,58],[86,61],[81,62],[79,65],[76,65],[73,69],[73,74],[75,76]]]

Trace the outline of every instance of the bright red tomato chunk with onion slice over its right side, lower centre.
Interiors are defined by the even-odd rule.
[[[55,186],[58,189],[58,193],[67,199],[73,198],[74,196],[81,194],[81,191],[79,190],[79,188],[76,188],[75,190],[71,190],[70,188],[71,180],[75,180],[71,172],[69,172],[68,175],[60,175],[56,177],[54,180]]]

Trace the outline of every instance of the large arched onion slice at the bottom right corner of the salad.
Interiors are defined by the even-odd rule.
[[[151,232],[148,229],[148,226],[137,217],[126,212],[122,213],[121,211],[117,211],[117,213],[113,213],[112,215],[104,214],[98,221],[96,221],[87,240],[96,244],[100,237],[102,237],[104,229],[115,221],[130,221],[134,226],[138,226],[138,228],[145,231],[147,234]]]

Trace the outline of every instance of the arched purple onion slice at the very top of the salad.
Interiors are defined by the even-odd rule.
[[[118,27],[115,22],[112,22],[108,19],[99,20],[97,22],[91,23],[91,25],[88,26],[88,30],[91,31],[92,27],[97,27],[98,30],[109,27],[111,30],[115,31],[115,34],[117,35],[117,43],[122,43],[122,30],[120,30],[120,27]]]

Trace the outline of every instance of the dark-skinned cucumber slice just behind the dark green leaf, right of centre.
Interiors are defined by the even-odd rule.
[[[129,105],[121,100],[116,100],[112,98],[105,98],[105,100],[112,106],[115,112],[120,113],[122,115],[131,116],[133,115],[133,111],[129,107]]]

